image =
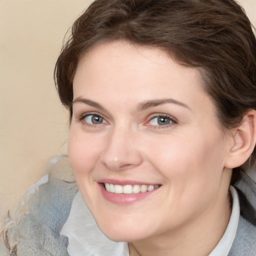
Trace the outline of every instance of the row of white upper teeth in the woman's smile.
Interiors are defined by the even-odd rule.
[[[143,193],[146,191],[152,191],[153,189],[159,187],[159,185],[114,185],[109,183],[104,183],[105,189],[108,192],[116,194],[131,194],[131,193]]]

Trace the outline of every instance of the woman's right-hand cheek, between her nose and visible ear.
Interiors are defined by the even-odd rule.
[[[148,139],[144,147],[147,160],[161,172],[166,182],[175,181],[175,187],[205,186],[220,178],[223,165],[222,137],[194,131]]]

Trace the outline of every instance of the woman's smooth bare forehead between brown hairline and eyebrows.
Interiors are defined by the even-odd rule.
[[[191,82],[198,89],[203,84],[197,68],[178,64],[172,56],[157,47],[135,45],[127,41],[101,43],[79,60],[73,80],[74,93],[77,87],[86,85],[89,89],[92,81],[94,85],[100,84],[102,89],[110,81],[112,86],[119,82],[122,89],[128,88],[129,84],[137,90],[144,83],[148,84],[148,88],[157,89],[159,84],[170,88],[176,81],[180,83],[180,88],[182,83],[186,83],[183,84],[186,91],[191,89]],[[152,83],[154,86],[149,86]]]

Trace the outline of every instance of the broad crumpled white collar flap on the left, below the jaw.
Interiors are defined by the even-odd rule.
[[[79,191],[60,234],[68,237],[70,256],[129,256],[126,242],[109,240],[100,231]]]

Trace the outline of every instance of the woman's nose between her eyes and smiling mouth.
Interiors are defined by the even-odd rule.
[[[116,128],[107,138],[100,161],[110,170],[123,170],[139,165],[142,156],[135,132]]]

